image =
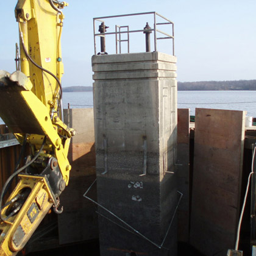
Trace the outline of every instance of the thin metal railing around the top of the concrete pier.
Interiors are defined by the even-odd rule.
[[[110,18],[121,18],[121,17],[127,17],[127,16],[139,16],[139,15],[152,15],[153,20],[154,20],[154,28],[150,29],[140,29],[140,30],[129,30],[129,26],[117,26],[115,32],[105,32],[105,19],[110,19]],[[157,16],[163,19],[162,23],[157,23]],[[95,22],[99,21],[101,22],[101,27],[104,29],[101,30],[100,33],[96,33],[96,24]],[[171,25],[171,33],[169,34],[168,32],[164,32],[162,30],[157,29],[157,26],[159,25]],[[121,28],[127,27],[127,30],[121,31]],[[104,51],[99,52],[99,54],[105,54],[105,36],[106,35],[115,35],[116,37],[116,54],[118,54],[118,43],[119,43],[119,53],[121,53],[121,42],[127,41],[127,49],[128,53],[130,52],[130,39],[129,39],[129,34],[130,33],[151,33],[154,32],[154,51],[157,51],[157,40],[162,40],[162,39],[171,39],[172,40],[172,55],[174,55],[174,23],[164,16],[160,15],[157,12],[144,12],[144,13],[132,13],[132,14],[125,14],[125,15],[114,15],[114,16],[104,16],[104,17],[97,17],[93,18],[93,34],[94,34],[94,54],[97,52],[97,47],[96,47],[96,37],[101,37],[101,49],[104,49]],[[162,37],[157,37],[157,32],[159,34],[162,34]],[[121,40],[121,34],[127,34],[127,40]],[[103,40],[102,40],[103,39]],[[102,47],[102,44],[103,47]]]

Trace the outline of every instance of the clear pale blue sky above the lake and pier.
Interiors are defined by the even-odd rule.
[[[0,69],[9,72],[15,71],[16,2],[0,1]],[[178,81],[256,79],[255,0],[70,0],[68,4],[63,9],[63,87],[93,84],[93,18],[141,12],[157,12],[174,22]],[[143,29],[146,21],[153,27],[151,15],[105,20],[105,24],[110,26],[107,32],[112,32],[115,24],[129,24],[130,29],[137,30]],[[107,52],[114,54],[115,42],[109,38]],[[158,51],[170,54],[171,40],[158,41]],[[144,44],[144,35],[130,37],[132,52],[144,51]],[[122,47],[126,50],[125,43]]]

